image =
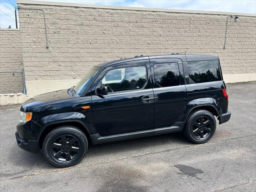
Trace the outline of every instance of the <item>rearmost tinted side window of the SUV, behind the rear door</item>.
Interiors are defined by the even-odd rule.
[[[195,83],[222,80],[218,60],[190,61],[188,62],[188,73]]]

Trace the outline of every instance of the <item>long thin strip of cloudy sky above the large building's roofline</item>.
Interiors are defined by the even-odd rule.
[[[48,0],[49,1],[49,0]],[[256,14],[256,0],[50,0],[96,5],[206,10]]]

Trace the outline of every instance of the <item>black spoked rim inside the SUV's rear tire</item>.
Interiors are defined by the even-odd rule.
[[[206,138],[212,133],[212,121],[206,116],[198,117],[193,124],[193,134],[196,138]]]

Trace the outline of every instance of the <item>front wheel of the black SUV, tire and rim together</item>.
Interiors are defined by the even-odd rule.
[[[84,133],[75,126],[59,126],[44,139],[42,151],[50,164],[69,167],[82,160],[88,149]]]

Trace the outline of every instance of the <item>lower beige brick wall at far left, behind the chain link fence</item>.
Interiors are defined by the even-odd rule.
[[[22,92],[22,62],[20,30],[0,29],[0,94]]]

